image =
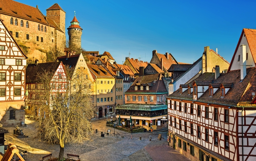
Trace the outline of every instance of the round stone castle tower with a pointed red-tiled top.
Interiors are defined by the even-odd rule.
[[[75,16],[70,23],[71,25],[67,28],[69,49],[78,52],[81,48],[81,36],[83,29],[79,26],[79,22]]]

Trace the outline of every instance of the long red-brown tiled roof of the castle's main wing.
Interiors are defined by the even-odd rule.
[[[9,16],[39,22],[48,25],[43,14],[38,8],[25,5],[13,0],[0,0],[0,14],[6,14]]]

